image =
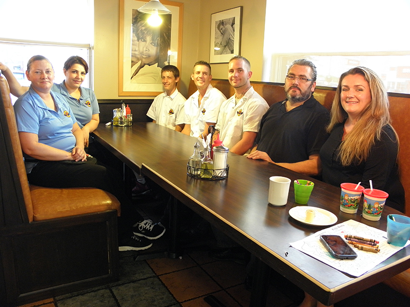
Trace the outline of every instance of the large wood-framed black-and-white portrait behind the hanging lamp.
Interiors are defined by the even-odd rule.
[[[148,24],[151,14],[138,12],[148,1],[120,0],[118,96],[157,96],[163,92],[161,68],[181,67],[183,4],[161,0],[171,14]]]

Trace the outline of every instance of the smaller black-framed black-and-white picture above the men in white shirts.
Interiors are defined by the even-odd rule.
[[[211,63],[228,63],[240,53],[242,7],[211,14]]]

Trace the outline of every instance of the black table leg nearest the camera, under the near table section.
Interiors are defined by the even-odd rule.
[[[250,307],[266,306],[268,296],[269,273],[271,268],[259,258],[256,259],[256,274],[252,282]]]

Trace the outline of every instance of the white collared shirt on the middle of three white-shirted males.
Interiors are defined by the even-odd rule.
[[[199,91],[192,94],[185,102],[184,123],[191,125],[191,137],[199,137],[205,124],[216,123],[219,108],[227,98],[211,84],[198,106]]]

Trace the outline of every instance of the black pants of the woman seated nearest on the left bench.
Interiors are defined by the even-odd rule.
[[[144,220],[125,193],[124,182],[110,167],[87,162],[40,161],[27,174],[29,183],[49,188],[98,188],[113,194],[121,204],[119,238],[131,235],[134,223]]]

